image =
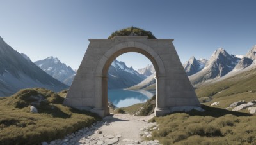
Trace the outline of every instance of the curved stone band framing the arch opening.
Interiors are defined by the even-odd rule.
[[[159,59],[159,55],[149,46],[144,45],[143,43],[139,42],[124,42],[124,43],[119,43],[118,45],[113,46],[106,52],[102,58],[99,61],[99,64],[97,65],[96,72],[100,72],[99,74],[95,74],[95,88],[99,87],[100,88],[100,83],[101,83],[101,92],[100,90],[95,90],[95,97],[97,100],[95,101],[95,109],[100,110],[104,109],[105,110],[105,115],[109,114],[108,110],[108,79],[107,79],[107,74],[108,74],[108,69],[113,60],[116,59],[119,55],[122,55],[127,52],[137,52],[141,53],[145,57],[147,57],[153,64],[155,70],[156,70],[156,79],[159,78],[159,76],[163,77],[165,76],[165,68],[163,61]],[[164,79],[161,79],[159,81],[164,81]],[[159,82],[158,82],[159,83]],[[156,85],[158,87],[158,85]],[[164,87],[159,89],[156,88],[156,90],[161,90],[164,92]],[[164,101],[161,102],[158,99],[158,92],[156,91],[156,98],[157,98],[157,107],[164,107]],[[163,97],[161,98],[163,99]],[[101,104],[100,104],[101,102]]]

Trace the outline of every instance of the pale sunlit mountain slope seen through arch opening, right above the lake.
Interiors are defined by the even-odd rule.
[[[127,90],[155,90],[156,89],[156,72],[148,76],[148,78],[144,79],[137,85],[131,86],[127,88]]]

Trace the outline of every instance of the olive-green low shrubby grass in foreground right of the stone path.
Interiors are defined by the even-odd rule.
[[[173,113],[154,117],[159,130],[152,138],[161,144],[256,144],[256,116],[202,106],[204,113]]]

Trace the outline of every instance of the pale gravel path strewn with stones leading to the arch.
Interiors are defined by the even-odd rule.
[[[66,135],[64,139],[56,139],[47,144],[159,144],[159,141],[143,141],[143,137],[151,136],[151,131],[157,129],[156,123],[149,123],[150,116],[132,116],[130,114],[114,114],[103,121],[93,123],[91,127]]]

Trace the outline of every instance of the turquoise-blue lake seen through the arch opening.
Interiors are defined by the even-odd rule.
[[[108,99],[113,102],[116,107],[127,107],[137,103],[146,102],[150,99],[155,92],[146,90],[108,90]]]

